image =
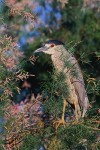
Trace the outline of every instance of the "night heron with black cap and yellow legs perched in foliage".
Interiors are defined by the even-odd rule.
[[[60,124],[65,126],[65,111],[67,104],[74,105],[74,113],[76,120],[84,118],[89,100],[85,89],[83,74],[75,56],[65,48],[64,43],[58,40],[49,40],[44,46],[35,50],[33,53],[44,53],[51,57],[55,71],[65,74],[65,83],[68,86],[69,94],[63,97],[63,111],[61,120],[58,121],[57,128]],[[67,65],[65,65],[67,64]],[[74,75],[76,72],[76,75]]]

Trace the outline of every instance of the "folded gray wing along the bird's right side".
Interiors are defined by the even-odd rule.
[[[75,92],[78,96],[79,104],[82,109],[82,117],[84,117],[89,106],[89,101],[88,101],[87,92],[85,90],[83,75],[79,67],[79,64],[74,56],[70,57],[70,62],[72,64],[71,70],[72,71],[75,70],[77,74],[76,76],[72,75],[71,81],[75,87]]]

